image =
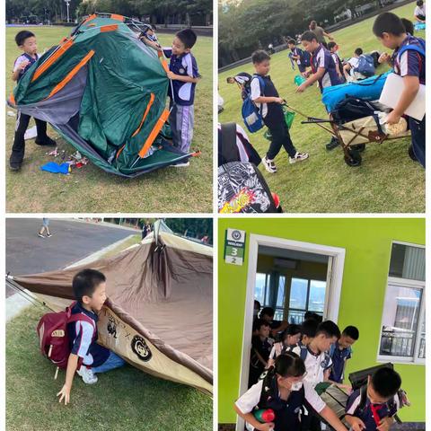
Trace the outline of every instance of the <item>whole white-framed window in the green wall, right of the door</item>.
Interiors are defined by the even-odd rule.
[[[378,360],[425,363],[425,248],[392,243]]]

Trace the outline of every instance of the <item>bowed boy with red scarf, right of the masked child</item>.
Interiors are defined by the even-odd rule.
[[[400,408],[398,391],[400,374],[391,368],[380,368],[368,376],[365,406],[361,409],[361,390],[350,394],[347,400],[346,421],[353,431],[389,431]]]

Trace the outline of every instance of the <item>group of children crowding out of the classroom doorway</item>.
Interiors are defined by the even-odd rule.
[[[255,316],[258,309],[255,302]],[[360,391],[343,384],[347,360],[359,339],[355,326],[341,332],[336,323],[321,321],[321,316],[312,312],[306,313],[302,325],[273,318],[274,310],[266,307],[253,321],[249,390],[234,404],[248,429],[319,431],[324,418],[337,431],[346,431],[314,390],[319,383],[328,382],[351,392],[345,417],[351,429],[389,430],[400,405],[400,374],[383,367],[369,376],[365,406],[360,409]],[[259,409],[273,409],[275,419],[260,423],[253,415]]]

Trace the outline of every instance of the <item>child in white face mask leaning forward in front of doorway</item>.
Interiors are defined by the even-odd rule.
[[[321,400],[312,385],[305,380],[305,365],[295,353],[278,356],[274,367],[263,380],[254,384],[233,408],[247,423],[248,430],[300,431],[303,405],[314,409],[336,431],[346,431],[337,415]],[[253,415],[254,409],[273,409],[274,422],[262,424]]]

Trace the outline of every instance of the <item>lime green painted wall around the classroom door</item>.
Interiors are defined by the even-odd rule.
[[[423,218],[222,218],[218,224],[218,421],[234,423],[233,401],[238,398],[242,356],[242,328],[248,268],[224,263],[226,228],[313,242],[346,249],[339,326],[351,324],[360,331],[347,374],[377,365],[383,300],[388,277],[391,242],[425,244]],[[425,421],[425,366],[396,365],[402,386],[412,403],[402,409],[404,421]]]

